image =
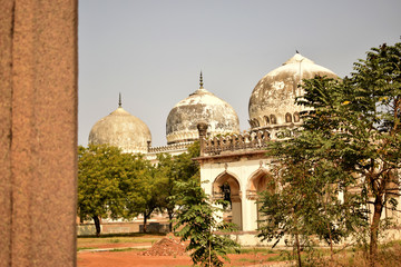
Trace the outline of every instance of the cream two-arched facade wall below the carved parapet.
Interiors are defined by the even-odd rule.
[[[253,155],[227,155],[200,157],[203,188],[213,199],[229,202],[223,219],[237,225],[241,233],[257,230],[260,204],[258,192],[275,190],[270,159],[265,151]]]

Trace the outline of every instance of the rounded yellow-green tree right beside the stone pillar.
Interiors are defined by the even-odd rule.
[[[117,147],[78,147],[78,215],[94,219],[97,236],[100,218],[130,219],[147,202],[150,165],[140,155],[123,154]],[[151,191],[151,190],[150,190]]]

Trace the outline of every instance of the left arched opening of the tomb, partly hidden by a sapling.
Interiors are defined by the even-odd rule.
[[[213,198],[229,202],[223,212],[223,220],[234,222],[242,229],[242,202],[238,180],[227,171],[217,176],[213,182]]]

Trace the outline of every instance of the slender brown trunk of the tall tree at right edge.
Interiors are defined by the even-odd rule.
[[[374,267],[378,259],[378,238],[379,238],[379,226],[380,226],[380,217],[383,210],[382,196],[376,196],[374,199],[374,211],[373,218],[370,228],[370,266]]]

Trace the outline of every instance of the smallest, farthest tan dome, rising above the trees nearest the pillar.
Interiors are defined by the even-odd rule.
[[[95,123],[89,134],[89,144],[108,144],[123,149],[124,152],[148,150],[151,141],[149,128],[144,121],[124,110],[121,106]]]

